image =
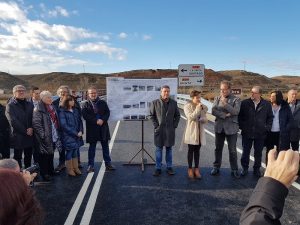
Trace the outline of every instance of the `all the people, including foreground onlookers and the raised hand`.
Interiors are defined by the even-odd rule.
[[[97,96],[97,88],[88,89],[88,100],[80,106],[68,86],[57,90],[58,99],[52,101],[49,91],[38,88],[31,90],[31,98],[26,99],[26,88],[17,85],[6,109],[0,105],[0,150],[2,157],[10,157],[10,146],[14,148],[15,160],[0,161],[0,204],[6,205],[0,213],[0,224],[41,224],[42,211],[28,184],[32,177],[22,172],[22,155],[25,168],[34,162],[40,165],[40,173],[45,181],[61,172],[65,167],[70,176],[80,175],[80,150],[83,145],[83,122],[86,121],[86,142],[89,143],[87,172],[94,171],[95,150],[100,141],[107,170],[114,170],[111,164],[108,141],[110,132],[109,108]],[[184,106],[187,118],[184,143],[187,144],[188,177],[201,179],[199,169],[200,148],[205,145],[204,126],[208,122],[207,106],[201,103],[201,93],[192,91],[191,100]],[[280,91],[271,93],[270,101],[262,98],[262,89],[254,86],[251,97],[241,101],[231,94],[231,84],[222,81],[220,96],[215,98],[212,115],[215,116],[215,161],[211,175],[220,174],[222,150],[225,139],[228,143],[231,175],[246,176],[249,157],[254,146],[253,174],[261,177],[261,161],[264,146],[267,148],[268,162],[264,178],[260,179],[249,204],[244,209],[240,224],[280,224],[284,200],[288,188],[297,178],[299,169],[300,102],[297,90],[291,89],[285,101]],[[162,152],[166,148],[167,173],[174,175],[172,146],[175,144],[175,130],[180,121],[177,102],[170,98],[169,86],[161,88],[161,96],[154,100],[150,116],[154,125],[156,146],[156,168],[154,176],[162,173]],[[243,154],[242,171],[238,171],[237,135],[241,129]],[[9,141],[10,140],[10,141]],[[276,146],[276,150],[274,150]],[[292,148],[294,151],[289,150]],[[54,169],[54,150],[59,151],[59,165]],[[271,150],[273,149],[273,150]],[[278,156],[277,156],[278,155]],[[23,177],[23,178],[22,178]],[[25,202],[24,205],[20,205]],[[9,204],[7,204],[9,203]]]

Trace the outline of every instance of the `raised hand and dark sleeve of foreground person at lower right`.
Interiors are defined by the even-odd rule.
[[[242,212],[240,225],[280,225],[280,217],[288,188],[297,179],[299,153],[276,150],[269,152],[269,164],[259,179],[248,205]]]

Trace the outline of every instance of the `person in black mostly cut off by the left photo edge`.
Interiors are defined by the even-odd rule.
[[[5,106],[0,104],[0,154],[2,158],[10,157],[9,123],[5,116]]]

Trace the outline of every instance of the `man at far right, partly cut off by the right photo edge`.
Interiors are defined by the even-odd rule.
[[[290,131],[291,147],[294,151],[299,150],[300,139],[300,101],[297,100],[297,94],[296,89],[289,90],[287,100],[294,118]]]

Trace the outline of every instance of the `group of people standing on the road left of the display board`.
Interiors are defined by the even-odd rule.
[[[79,149],[84,144],[83,117],[86,141],[90,144],[87,172],[94,171],[98,141],[102,145],[106,169],[115,169],[108,147],[110,112],[106,102],[99,99],[96,87],[88,89],[89,99],[83,102],[82,107],[66,85],[58,88],[58,98],[54,101],[49,91],[40,92],[34,87],[30,93],[31,97],[26,98],[26,88],[16,85],[6,109],[0,106],[0,151],[3,158],[10,158],[10,147],[14,149],[13,158],[19,168],[23,168],[23,161],[24,168],[30,167],[33,158],[40,166],[44,181],[50,181],[51,176],[65,168],[70,176],[81,175]],[[59,164],[54,169],[55,150],[59,152]]]

